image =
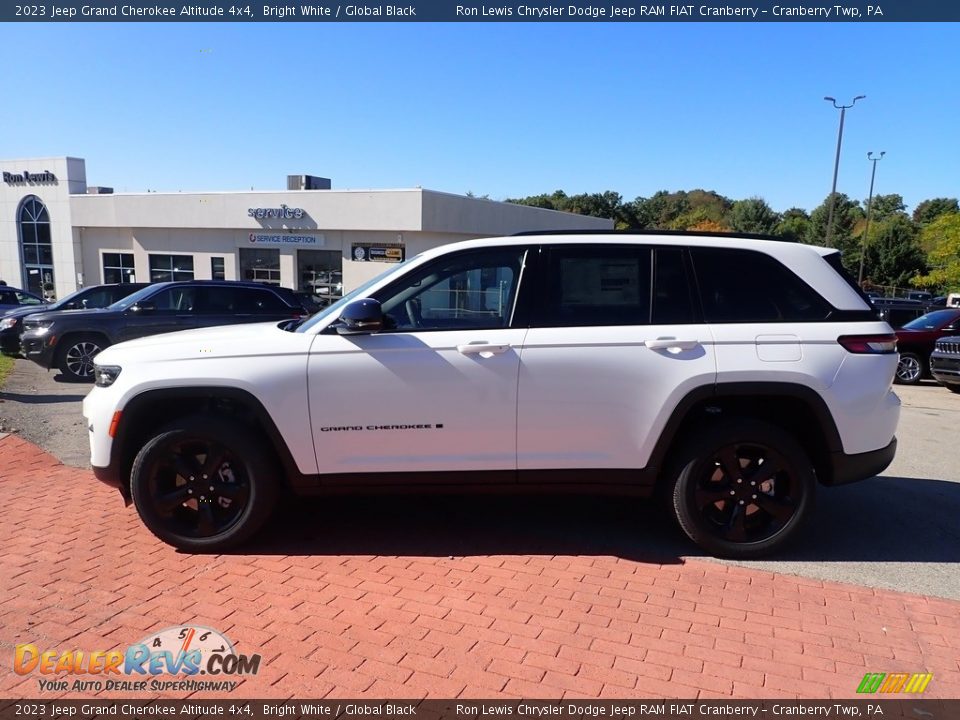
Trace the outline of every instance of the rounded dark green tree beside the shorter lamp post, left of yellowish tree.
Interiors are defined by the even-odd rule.
[[[859,252],[853,254],[859,263]],[[871,225],[864,261],[864,280],[874,285],[906,287],[914,277],[926,270],[927,258],[917,242],[916,226],[910,218],[897,215],[875,226]]]

